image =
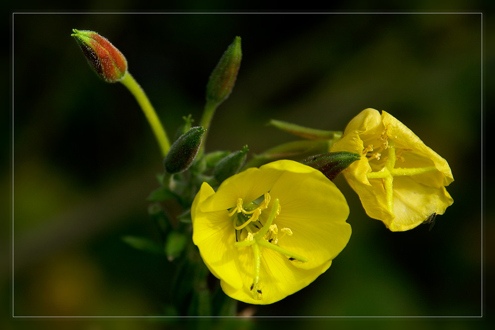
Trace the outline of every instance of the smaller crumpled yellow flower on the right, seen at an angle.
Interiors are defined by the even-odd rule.
[[[392,231],[409,230],[453,203],[445,159],[391,114],[366,109],[347,125],[332,151],[359,153],[343,171],[367,215]]]

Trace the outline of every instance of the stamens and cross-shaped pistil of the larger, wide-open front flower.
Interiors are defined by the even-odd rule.
[[[260,272],[261,272],[261,247],[272,249],[284,255],[289,261],[307,262],[303,256],[288,251],[278,246],[279,239],[285,235],[292,235],[293,232],[289,228],[281,228],[282,234],[279,236],[278,227],[273,220],[280,214],[280,201],[276,198],[273,201],[272,209],[265,223],[259,219],[261,213],[268,208],[271,202],[270,193],[266,192],[263,195],[263,200],[260,204],[251,202],[245,206],[242,198],[237,199],[237,205],[229,210],[229,216],[233,219],[233,226],[236,231],[236,242],[234,246],[237,248],[251,247],[254,256],[254,272],[253,281],[249,287],[252,291],[253,298],[262,299]],[[243,230],[247,231],[244,240],[241,240]]]

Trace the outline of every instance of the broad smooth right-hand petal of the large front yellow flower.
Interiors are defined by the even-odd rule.
[[[270,191],[280,200],[281,211],[275,219],[284,235],[278,245],[308,259],[294,261],[296,267],[312,269],[334,259],[347,245],[351,228],[347,201],[335,184],[320,171],[311,174],[285,172]]]

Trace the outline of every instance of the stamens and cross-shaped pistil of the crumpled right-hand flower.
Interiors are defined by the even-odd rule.
[[[385,135],[385,132],[383,135]],[[366,176],[368,179],[382,180],[386,192],[387,209],[389,210],[390,213],[394,214],[394,177],[401,175],[411,176],[411,175],[422,174],[436,170],[437,167],[428,166],[428,167],[413,167],[413,168],[400,168],[400,167],[396,168],[395,166],[396,166],[397,158],[402,162],[405,162],[404,158],[397,155],[405,150],[399,150],[399,152],[396,152],[396,146],[393,140],[390,140],[386,136],[383,137],[382,140],[383,140],[383,144],[380,150],[388,149],[389,155],[387,161],[385,162],[385,165],[381,170],[377,172],[369,172],[368,174],[366,174]],[[363,152],[364,153],[373,152],[373,146],[368,146],[363,150]],[[381,156],[382,154],[379,152],[374,153],[371,155],[371,157],[369,157],[369,161],[371,162],[375,158],[379,160]]]

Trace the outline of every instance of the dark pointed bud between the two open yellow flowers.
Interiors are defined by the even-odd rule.
[[[338,151],[334,153],[311,156],[303,160],[301,163],[316,168],[333,181],[340,172],[346,169],[347,166],[351,165],[353,162],[358,161],[359,158],[360,156],[358,154],[347,151]]]

